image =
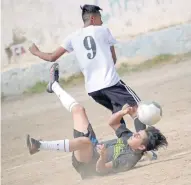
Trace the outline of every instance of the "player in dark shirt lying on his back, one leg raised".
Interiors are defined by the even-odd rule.
[[[51,67],[48,92],[59,92],[57,95],[62,105],[72,113],[74,139],[41,141],[28,135],[29,152],[30,154],[40,150],[72,152],[72,164],[82,178],[129,170],[136,165],[145,151],[158,150],[168,144],[165,136],[154,127],[132,133],[121,124],[121,118],[132,109],[127,105],[114,113],[109,120],[117,139],[99,143],[84,107],[60,87],[56,64]]]

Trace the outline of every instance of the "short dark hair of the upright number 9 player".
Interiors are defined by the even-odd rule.
[[[99,6],[96,5],[88,5],[80,6],[82,9],[82,20],[83,22],[89,21],[90,15],[100,14],[100,10],[102,10]]]

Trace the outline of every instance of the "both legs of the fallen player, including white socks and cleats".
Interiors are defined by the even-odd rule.
[[[60,99],[62,105],[72,113],[74,129],[85,134],[88,133],[89,121],[85,109],[76,100],[64,91],[58,84],[58,64],[54,63],[50,69],[50,82],[47,91],[55,94]],[[27,136],[27,146],[30,154],[35,154],[40,150],[74,152],[76,159],[80,162],[89,162],[92,158],[92,142],[87,137],[78,137],[72,140],[40,141]]]

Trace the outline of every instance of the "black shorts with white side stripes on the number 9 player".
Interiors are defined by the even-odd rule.
[[[122,80],[114,86],[88,93],[88,95],[97,103],[111,110],[112,113],[121,110],[125,104],[135,106],[141,101],[137,94]]]

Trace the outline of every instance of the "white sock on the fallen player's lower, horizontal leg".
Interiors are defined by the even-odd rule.
[[[43,150],[60,150],[64,152],[70,152],[69,140],[57,140],[57,141],[39,141],[40,149]]]

